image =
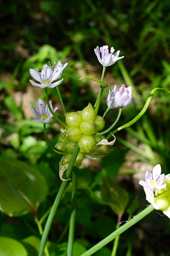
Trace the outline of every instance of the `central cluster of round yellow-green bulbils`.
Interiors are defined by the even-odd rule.
[[[104,128],[105,120],[102,116],[95,114],[90,103],[83,110],[66,113],[65,117],[68,129],[62,131],[63,134],[59,137],[55,147],[66,152],[62,158],[64,165],[70,162],[75,144],[78,143],[80,152],[74,166],[79,167],[84,154],[91,152],[96,144],[102,140],[100,135],[96,136],[95,134]]]

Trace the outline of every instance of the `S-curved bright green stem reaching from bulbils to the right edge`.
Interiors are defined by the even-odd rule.
[[[167,90],[167,89],[158,88],[158,87],[157,87],[157,88],[154,88],[154,89],[150,92],[149,97],[147,98],[147,101],[145,102],[145,105],[144,105],[143,109],[141,110],[141,112],[140,112],[137,116],[135,116],[135,118],[133,118],[131,121],[129,121],[127,124],[124,124],[124,125],[120,126],[119,128],[117,128],[116,130],[114,130],[114,131],[112,132],[112,134],[115,134],[115,133],[118,132],[119,130],[122,130],[122,129],[124,129],[124,128],[127,128],[127,127],[131,126],[132,124],[134,124],[135,122],[137,122],[137,120],[139,120],[139,118],[141,118],[141,116],[143,116],[143,114],[146,112],[147,108],[149,107],[150,101],[152,100],[153,94],[154,94],[154,92],[156,92],[156,91],[163,91],[163,92],[166,92],[166,93],[170,94],[170,91]],[[108,140],[110,137],[111,137],[111,134],[109,134],[109,135],[106,137],[106,139]]]

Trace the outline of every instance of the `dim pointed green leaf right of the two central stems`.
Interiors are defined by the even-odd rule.
[[[101,188],[103,201],[108,204],[115,214],[123,214],[127,206],[129,196],[127,192],[108,177],[104,177]]]

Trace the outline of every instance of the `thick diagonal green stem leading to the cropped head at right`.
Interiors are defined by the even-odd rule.
[[[90,248],[87,252],[84,252],[80,256],[91,256],[98,250],[100,250],[103,246],[111,242],[114,238],[122,234],[125,230],[136,224],[139,220],[143,219],[145,216],[147,216],[150,212],[154,210],[154,207],[152,204],[150,204],[145,210],[134,216],[131,220],[126,222],[123,226],[115,230],[113,233],[111,233],[109,236],[104,238],[102,241],[100,241],[98,244]]]

